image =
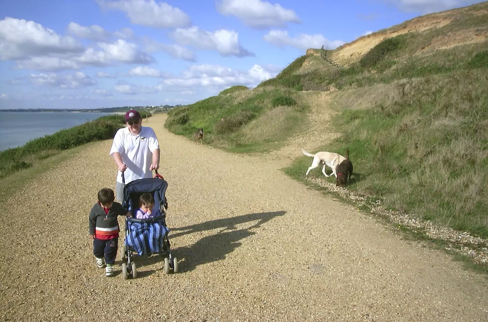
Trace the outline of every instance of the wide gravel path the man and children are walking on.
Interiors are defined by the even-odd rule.
[[[484,277],[275,163],[173,135],[165,118],[143,125],[161,142],[182,272],[164,275],[159,256],[137,258],[135,280],[119,255],[117,276],[96,267],[88,212],[116,167],[111,141],[94,143],[2,205],[3,321],[488,321]]]

